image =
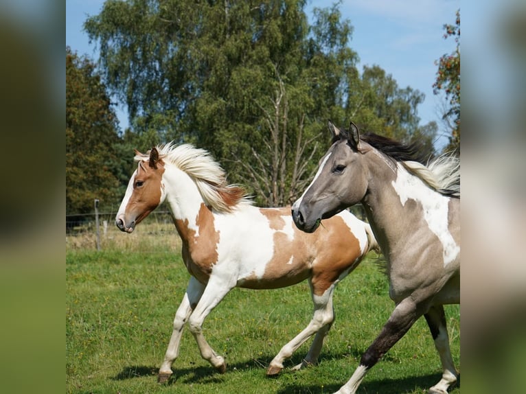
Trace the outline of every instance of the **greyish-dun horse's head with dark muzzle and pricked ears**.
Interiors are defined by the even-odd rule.
[[[304,194],[294,203],[296,226],[307,233],[315,231],[321,220],[360,202],[367,191],[367,172],[363,165],[363,142],[358,127],[340,130],[329,121],[332,146],[319,163],[318,172]]]

